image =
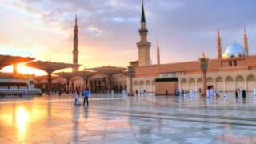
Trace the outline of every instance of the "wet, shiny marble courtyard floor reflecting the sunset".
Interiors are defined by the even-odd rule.
[[[0,98],[0,143],[256,143],[256,97]],[[81,99],[82,102],[82,99]]]

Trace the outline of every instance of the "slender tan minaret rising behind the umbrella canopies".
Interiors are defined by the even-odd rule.
[[[78,18],[75,15],[74,25],[74,49],[73,49],[73,64],[78,64]],[[78,67],[73,68],[73,72],[78,71]]]

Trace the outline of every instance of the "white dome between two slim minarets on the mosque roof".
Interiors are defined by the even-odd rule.
[[[230,46],[228,46],[223,54],[223,58],[231,58],[231,57],[243,57],[246,56],[246,50],[243,46],[234,42]]]

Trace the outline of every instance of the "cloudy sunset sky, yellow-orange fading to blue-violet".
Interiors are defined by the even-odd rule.
[[[138,60],[141,0],[1,0],[1,54],[72,62],[74,18],[78,15],[78,63],[82,68],[124,66]],[[234,40],[256,54],[254,0],[145,0],[150,57],[156,63],[217,58]],[[81,69],[82,69],[81,68]]]

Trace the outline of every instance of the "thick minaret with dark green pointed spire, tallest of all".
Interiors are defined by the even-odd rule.
[[[146,28],[144,2],[142,0],[141,28],[139,29],[139,34],[140,34],[141,41],[137,42],[138,66],[149,66],[150,65],[150,46],[151,46],[151,43],[147,42],[147,32],[148,32],[148,30]]]

